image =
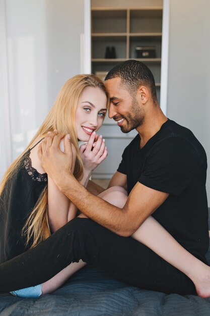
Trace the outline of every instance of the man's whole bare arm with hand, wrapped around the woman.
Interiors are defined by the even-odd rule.
[[[62,135],[61,135],[62,136]],[[42,142],[42,164],[47,174],[77,207],[89,218],[109,230],[130,236],[166,200],[167,193],[136,183],[123,208],[113,206],[90,193],[72,175],[72,147],[65,138],[65,152],[58,144],[59,135],[49,136]]]

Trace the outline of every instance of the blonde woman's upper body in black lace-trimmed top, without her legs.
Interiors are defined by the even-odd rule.
[[[86,186],[92,171],[107,155],[104,139],[96,134],[106,110],[106,90],[96,76],[77,75],[63,85],[42,126],[3,179],[0,191],[1,262],[35,247],[77,216],[75,205],[60,193],[52,179],[47,178],[38,157],[38,143],[55,129],[70,134],[74,147],[72,171]],[[79,149],[79,140],[90,141]],[[63,140],[60,148],[64,150]],[[51,283],[54,284],[54,280]],[[31,289],[30,295],[36,295],[36,291],[40,291],[40,286]]]

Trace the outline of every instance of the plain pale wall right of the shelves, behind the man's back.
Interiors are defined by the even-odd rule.
[[[192,130],[210,166],[210,2],[170,0],[167,116]],[[210,205],[210,167],[207,170]]]

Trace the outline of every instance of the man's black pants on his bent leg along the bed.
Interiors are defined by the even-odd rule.
[[[195,294],[191,280],[151,249],[82,218],[72,220],[32,250],[1,264],[0,293],[43,283],[79,259],[137,287]]]

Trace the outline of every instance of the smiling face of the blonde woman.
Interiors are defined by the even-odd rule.
[[[101,127],[106,114],[107,97],[100,88],[86,87],[79,98],[75,123],[79,140],[88,141]]]

